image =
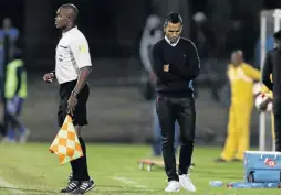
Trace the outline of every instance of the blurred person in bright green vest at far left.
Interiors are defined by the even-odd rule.
[[[9,129],[3,139],[4,142],[15,142],[15,132],[18,131],[20,143],[25,143],[29,136],[28,130],[19,119],[28,95],[27,85],[27,72],[21,59],[21,53],[18,51],[14,52],[13,61],[7,65],[4,98],[7,102],[6,122]]]

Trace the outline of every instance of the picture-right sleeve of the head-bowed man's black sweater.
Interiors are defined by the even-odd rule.
[[[195,79],[200,74],[200,58],[195,44],[189,41],[187,45],[187,61],[185,64],[174,65],[174,72],[185,79]]]

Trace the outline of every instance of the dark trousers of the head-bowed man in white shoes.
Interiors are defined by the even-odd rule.
[[[178,181],[175,156],[175,121],[180,127],[181,148],[178,174],[187,174],[191,164],[195,139],[196,111],[194,96],[173,98],[158,96],[156,111],[161,128],[163,158],[168,181]]]

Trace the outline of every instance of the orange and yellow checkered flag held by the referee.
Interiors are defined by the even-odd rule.
[[[71,116],[67,115],[65,117],[64,123],[49,148],[49,151],[59,156],[60,165],[83,156]]]

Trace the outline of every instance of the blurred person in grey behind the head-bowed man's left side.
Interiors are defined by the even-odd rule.
[[[157,15],[149,15],[140,40],[140,61],[143,65],[142,83],[144,87],[144,96],[146,99],[154,99],[155,97],[155,82],[156,77],[150,66],[150,46],[163,39],[163,28],[160,19]],[[161,155],[161,134],[158,117],[156,113],[155,99],[152,101],[154,116],[154,136],[153,136],[153,155]],[[179,126],[176,122],[175,139],[179,140]],[[176,141],[176,147],[179,141]],[[176,150],[177,151],[177,150]]]

